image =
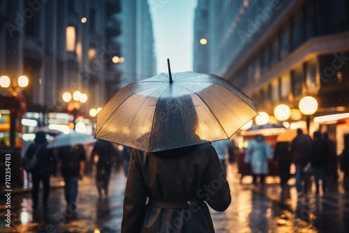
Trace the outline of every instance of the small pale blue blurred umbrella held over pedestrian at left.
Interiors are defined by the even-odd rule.
[[[94,142],[96,142],[96,140],[94,140],[93,136],[88,135],[86,133],[77,133],[73,131],[68,134],[61,134],[57,137],[54,137],[54,140],[52,140],[47,147],[56,148],[56,147],[71,146],[71,145],[77,145],[77,144],[90,144]]]

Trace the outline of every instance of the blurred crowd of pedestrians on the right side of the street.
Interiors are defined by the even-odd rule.
[[[308,192],[312,183],[316,194],[324,194],[329,181],[339,180],[339,170],[343,171],[343,182],[349,182],[349,135],[344,135],[344,144],[343,152],[337,155],[328,133],[315,131],[311,137],[299,128],[292,140],[276,141],[273,151],[262,135],[255,135],[248,144],[244,164],[251,166],[254,184],[258,176],[260,183],[264,183],[265,176],[277,166],[282,188],[287,185],[292,175],[290,167],[294,164],[298,195]]]

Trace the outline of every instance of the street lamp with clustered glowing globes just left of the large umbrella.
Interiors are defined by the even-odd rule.
[[[73,130],[75,130],[75,120],[77,118],[78,110],[80,110],[81,104],[86,103],[87,101],[87,94],[81,93],[80,91],[74,91],[73,95],[66,91],[63,93],[62,96],[64,102],[66,102],[67,110],[68,112],[71,112],[73,114]]]

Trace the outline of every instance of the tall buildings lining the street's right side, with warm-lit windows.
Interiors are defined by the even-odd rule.
[[[312,130],[329,131],[337,141],[349,133],[349,1],[209,1],[206,7],[211,73],[269,115],[279,104],[297,110],[302,97],[313,96]]]

